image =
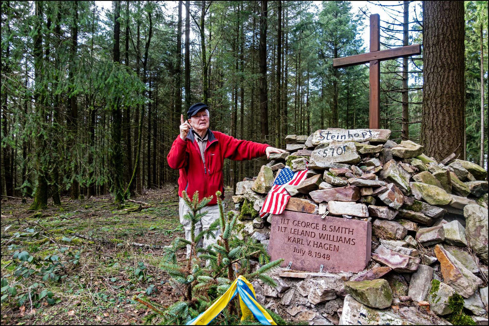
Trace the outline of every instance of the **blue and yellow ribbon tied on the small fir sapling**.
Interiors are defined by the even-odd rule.
[[[208,325],[221,313],[236,294],[239,294],[241,312],[243,313],[241,320],[245,320],[249,316],[250,320],[255,320],[256,318],[263,325],[277,325],[267,310],[256,301],[253,285],[241,275],[234,280],[221,298],[186,325]]]

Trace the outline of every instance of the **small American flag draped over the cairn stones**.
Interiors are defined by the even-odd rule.
[[[272,189],[268,192],[265,203],[260,210],[260,217],[264,217],[267,213],[281,214],[290,198],[285,186],[288,184],[297,186],[306,179],[306,174],[307,169],[295,173],[288,166],[282,169],[275,178]]]

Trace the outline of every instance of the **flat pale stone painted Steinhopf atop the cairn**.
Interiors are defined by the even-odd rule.
[[[365,141],[385,143],[391,130],[388,129],[343,129],[343,130],[316,130],[311,137],[312,146],[319,144],[329,144],[336,141]]]

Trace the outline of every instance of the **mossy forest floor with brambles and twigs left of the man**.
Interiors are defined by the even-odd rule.
[[[231,196],[226,192],[228,209]],[[163,249],[137,245],[164,246],[184,236],[176,188],[133,199],[151,207],[128,213],[111,196],[65,197],[61,209],[51,202],[34,212],[32,200],[2,200],[1,325],[142,324],[150,311],[135,295],[164,306],[180,300],[159,268]],[[185,260],[184,250],[178,260]]]

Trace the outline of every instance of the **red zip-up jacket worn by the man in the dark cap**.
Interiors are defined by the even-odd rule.
[[[219,131],[210,131],[205,148],[205,166],[200,156],[199,145],[190,131],[185,140],[180,136],[175,139],[168,153],[168,165],[180,170],[178,178],[178,196],[186,190],[192,198],[199,191],[199,199],[213,196],[208,205],[217,204],[216,192],[224,197],[224,179],[222,167],[224,158],[234,161],[250,160],[265,155],[267,144],[239,140]]]

